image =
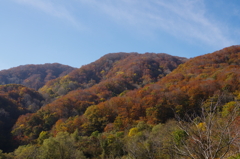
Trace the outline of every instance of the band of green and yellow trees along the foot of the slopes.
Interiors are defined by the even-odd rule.
[[[202,103],[200,114],[150,125],[137,122],[124,131],[94,131],[81,135],[66,130],[52,136],[42,131],[37,143],[18,147],[2,158],[228,158],[240,156],[239,97],[225,103],[220,97]],[[221,107],[222,109],[218,109]],[[75,119],[70,119],[75,120]]]

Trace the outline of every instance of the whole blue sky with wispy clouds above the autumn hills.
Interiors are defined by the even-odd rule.
[[[114,52],[191,58],[239,37],[239,0],[0,0],[0,70]]]

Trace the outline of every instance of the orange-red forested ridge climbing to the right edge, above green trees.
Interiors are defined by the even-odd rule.
[[[175,113],[184,116],[199,112],[204,101],[221,94],[222,102],[232,101],[240,93],[239,59],[240,46],[189,59],[156,83],[91,106],[85,115],[98,112],[101,115],[93,120],[98,121],[115,114],[111,117],[114,120],[107,119],[101,127],[113,122],[124,129],[139,120],[157,124],[174,118]],[[110,103],[114,105],[109,107]]]

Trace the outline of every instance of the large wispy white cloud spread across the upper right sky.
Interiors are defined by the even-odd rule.
[[[228,46],[227,26],[210,19],[204,0],[78,0],[104,12],[112,20],[144,28],[149,32],[163,30],[178,38],[196,40],[214,46]]]

